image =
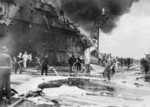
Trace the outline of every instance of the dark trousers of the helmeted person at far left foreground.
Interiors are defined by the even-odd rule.
[[[8,68],[0,68],[0,99],[3,98],[3,91],[6,91],[6,98],[10,99],[11,89],[10,89],[10,72]]]

